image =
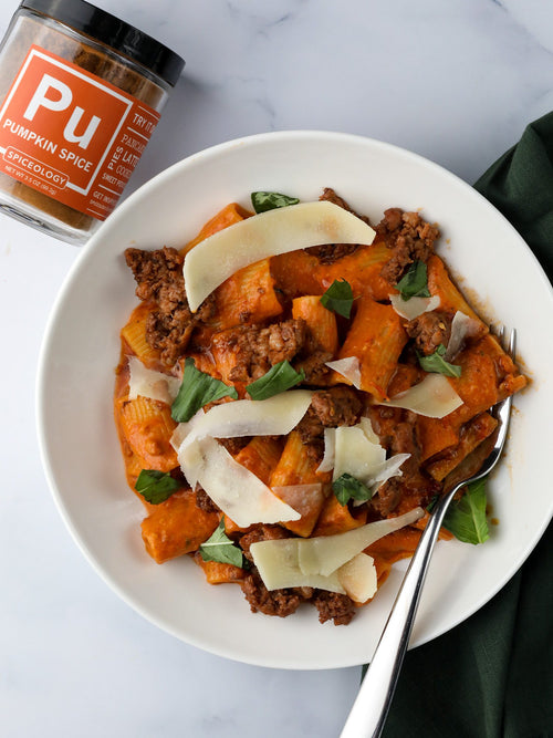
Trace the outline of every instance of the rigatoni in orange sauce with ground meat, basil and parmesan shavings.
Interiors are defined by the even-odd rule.
[[[490,408],[526,378],[393,207],[253,193],[181,249],[129,248],[114,413],[142,537],[252,612],[351,622],[413,554],[437,496],[480,468]],[[488,538],[486,482],[440,533]],[[190,563],[190,565],[192,565]],[[198,570],[198,571],[199,571]]]

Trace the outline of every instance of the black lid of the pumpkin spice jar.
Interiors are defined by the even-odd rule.
[[[35,10],[86,33],[148,67],[171,86],[177,83],[185,65],[184,59],[163,43],[85,0],[22,0],[19,7]]]

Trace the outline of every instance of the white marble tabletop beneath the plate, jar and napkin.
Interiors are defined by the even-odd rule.
[[[553,107],[543,0],[96,4],[187,60],[127,194],[206,146],[291,128],[380,138],[473,181]],[[0,32],[14,7],[1,3]],[[39,458],[34,380],[77,254],[0,216],[0,735],[337,736],[358,668],[263,669],[180,643],[119,601],[65,530]]]

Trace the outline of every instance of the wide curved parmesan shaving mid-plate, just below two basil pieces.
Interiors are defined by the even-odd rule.
[[[312,394],[309,389],[289,389],[268,399],[237,399],[216,405],[201,416],[194,416],[186,443],[207,436],[285,436],[305,415]]]

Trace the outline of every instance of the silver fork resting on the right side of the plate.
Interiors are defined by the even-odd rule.
[[[498,339],[503,344],[503,326],[498,331]],[[513,360],[515,339],[515,331],[512,330],[507,351]],[[436,505],[405,574],[341,738],[378,738],[380,736],[407,651],[422,584],[444,517],[461,487],[481,479],[498,462],[507,438],[511,405],[512,397],[508,397],[498,403],[493,409],[493,415],[499,420],[497,436],[493,447],[478,474],[453,485],[449,492],[445,493]]]

